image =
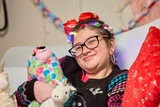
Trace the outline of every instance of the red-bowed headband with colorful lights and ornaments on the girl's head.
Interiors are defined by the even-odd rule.
[[[99,16],[95,13],[91,13],[91,12],[84,12],[82,14],[80,14],[79,16],[79,21],[76,21],[75,19],[72,19],[72,20],[69,20],[67,21],[66,23],[64,23],[64,31],[65,31],[65,34],[68,36],[68,42],[69,43],[72,43],[73,42],[73,35],[75,35],[76,32],[72,32],[72,29],[79,23],[79,22],[82,22],[82,21],[85,21],[87,19],[97,19],[99,20]],[[80,29],[82,28],[86,28],[88,24],[82,24],[80,26]],[[100,27],[101,24],[99,22],[92,22],[90,23],[89,25],[93,25],[95,27]],[[106,30],[108,30],[110,33],[113,34],[113,29],[112,27],[110,27],[109,25],[107,24],[103,24],[102,27]]]

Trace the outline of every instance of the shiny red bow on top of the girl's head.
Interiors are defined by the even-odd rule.
[[[72,19],[72,20],[69,20],[67,21],[66,23],[63,24],[64,26],[64,31],[65,31],[65,34],[68,35],[69,32],[79,23],[79,22],[82,22],[82,21],[85,21],[87,19],[97,19],[99,20],[99,16],[95,13],[92,13],[92,12],[84,12],[84,13],[81,13],[80,16],[79,16],[79,20],[76,21],[75,19]]]

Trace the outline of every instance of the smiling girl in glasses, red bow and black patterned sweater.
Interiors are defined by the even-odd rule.
[[[112,29],[99,16],[84,12],[79,20],[64,24],[72,56],[60,59],[64,75],[76,87],[71,107],[120,107],[126,85],[127,70],[115,64]],[[43,87],[43,88],[42,88]],[[20,107],[33,101],[43,102],[53,87],[37,80],[27,81],[15,92]]]

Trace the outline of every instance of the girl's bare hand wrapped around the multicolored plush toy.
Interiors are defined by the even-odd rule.
[[[34,83],[34,96],[39,103],[51,97],[53,86],[44,82],[36,81]]]

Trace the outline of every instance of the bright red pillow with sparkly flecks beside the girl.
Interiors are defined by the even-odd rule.
[[[160,104],[160,29],[151,26],[129,69],[122,107]]]

